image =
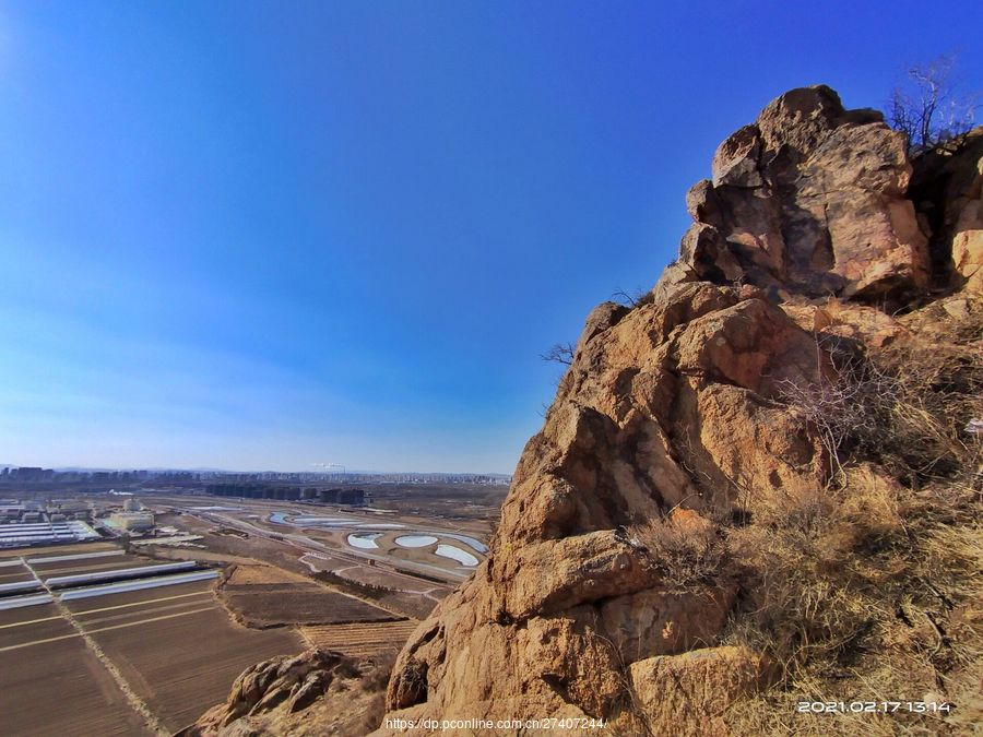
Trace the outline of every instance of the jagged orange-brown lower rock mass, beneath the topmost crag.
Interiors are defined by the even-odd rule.
[[[411,638],[390,706],[607,715],[627,665],[713,644],[733,590],[672,591],[621,531],[676,504],[736,503],[729,479],[756,488],[741,503],[814,485],[817,444],[771,397],[827,368],[754,288],[683,284],[616,322],[592,319],[489,560]]]

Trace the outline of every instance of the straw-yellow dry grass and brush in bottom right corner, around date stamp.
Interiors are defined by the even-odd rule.
[[[974,713],[983,662],[978,495],[958,480],[911,489],[861,465],[822,496],[825,503],[803,495],[784,520],[727,535],[726,574],[744,601],[726,640],[767,653],[783,673],[729,722],[744,734],[938,734]],[[957,712],[945,721],[805,715],[798,700],[951,701]]]

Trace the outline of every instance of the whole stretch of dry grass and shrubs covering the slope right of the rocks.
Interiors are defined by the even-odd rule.
[[[966,326],[963,326],[966,328]],[[780,666],[735,706],[735,732],[968,734],[983,717],[980,331],[861,355],[831,348],[839,378],[789,387],[831,459],[824,488],[730,527],[719,579],[742,606],[727,641]],[[845,358],[844,358],[845,356]],[[800,700],[948,701],[943,715],[800,714]]]

